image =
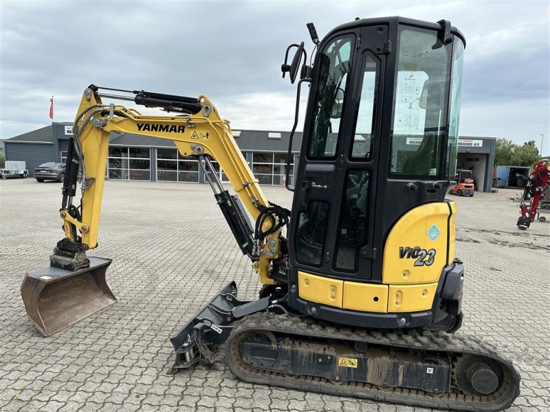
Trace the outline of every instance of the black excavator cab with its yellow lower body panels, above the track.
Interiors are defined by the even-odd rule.
[[[464,45],[448,21],[401,18],[341,25],[318,44],[300,80],[311,92],[288,236],[292,308],[369,328],[459,327],[445,194]],[[456,299],[442,307],[454,310],[439,310],[450,277]]]

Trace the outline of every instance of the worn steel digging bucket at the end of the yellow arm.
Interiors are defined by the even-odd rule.
[[[112,260],[89,260],[89,267],[74,272],[47,267],[25,275],[21,297],[30,321],[44,336],[115,303],[115,295],[105,282]]]

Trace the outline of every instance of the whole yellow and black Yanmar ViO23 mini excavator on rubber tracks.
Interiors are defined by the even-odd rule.
[[[105,282],[111,260],[86,255],[98,244],[109,136],[169,139],[199,160],[263,284],[254,301],[237,299],[234,282],[212,297],[172,337],[172,371],[216,361],[211,347],[225,343],[225,362],[247,382],[441,409],[509,407],[519,393],[514,366],[480,339],[452,334],[464,266],[445,193],[456,167],[463,35],[449,21],[399,17],[358,19],[322,41],[307,27],[316,55],[307,64],[304,43],[290,45],[281,67],[299,78],[289,154],[300,87],[310,88],[294,186],[286,168],[291,211],[265,198],[206,96],[85,89],[63,183],[65,236],[50,267],[21,286],[31,321],[48,335],[115,301]],[[210,173],[212,159],[235,195]]]

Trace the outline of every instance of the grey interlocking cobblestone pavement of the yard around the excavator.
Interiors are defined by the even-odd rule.
[[[264,187],[290,205],[282,187]],[[459,333],[496,344],[522,376],[509,411],[549,411],[550,222],[516,229],[514,190],[456,198],[467,268]],[[170,376],[169,336],[231,279],[259,282],[208,185],[108,181],[100,247],[118,303],[43,338],[19,295],[62,236],[59,183],[0,181],[0,411],[428,411],[250,385],[221,363]],[[550,216],[549,216],[550,218]],[[550,219],[549,219],[550,220]]]

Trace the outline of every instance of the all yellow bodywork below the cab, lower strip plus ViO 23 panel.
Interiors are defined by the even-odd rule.
[[[441,271],[454,259],[455,215],[454,202],[428,203],[404,214],[386,240],[382,284],[298,271],[299,296],[362,312],[429,310]]]

